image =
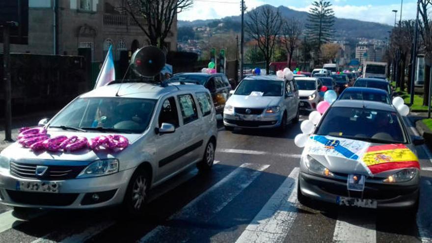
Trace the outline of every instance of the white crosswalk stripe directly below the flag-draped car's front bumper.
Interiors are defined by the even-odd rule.
[[[353,217],[339,212],[333,242],[377,242],[376,217]]]

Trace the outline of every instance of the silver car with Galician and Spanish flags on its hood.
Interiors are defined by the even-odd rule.
[[[337,100],[310,135],[300,159],[297,197],[341,206],[404,208],[415,216],[420,165],[392,105]],[[379,152],[379,153],[378,153]]]

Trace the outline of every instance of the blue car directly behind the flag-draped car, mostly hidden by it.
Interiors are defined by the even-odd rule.
[[[378,88],[349,87],[339,95],[338,100],[378,101],[391,104],[388,93]]]

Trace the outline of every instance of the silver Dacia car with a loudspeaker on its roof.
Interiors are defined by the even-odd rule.
[[[136,215],[151,188],[189,165],[213,165],[216,110],[202,85],[111,84],[82,94],[40,123],[51,137],[123,135],[129,146],[33,152],[13,143],[0,153],[0,203],[16,210],[123,205]]]

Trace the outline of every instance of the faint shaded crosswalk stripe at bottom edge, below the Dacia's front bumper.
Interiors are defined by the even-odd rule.
[[[85,241],[93,238],[94,236],[96,236],[100,232],[108,229],[109,227],[111,227],[114,224],[115,224],[115,221],[113,221],[113,220],[109,220],[109,221],[105,221],[105,222],[100,222],[100,223],[97,223],[97,224],[92,225],[90,227],[87,227],[81,233],[67,236],[66,238],[64,238],[60,242],[61,243],[85,242]],[[58,233],[53,233],[53,234],[54,234],[54,236],[56,236]],[[44,236],[42,238],[39,238],[39,239],[33,241],[32,243],[57,243],[57,241],[53,241],[53,240],[48,240],[47,239],[47,238],[51,238],[51,235],[52,234],[48,234],[48,235],[46,235],[46,236]],[[56,236],[55,238],[58,238],[58,236]]]

